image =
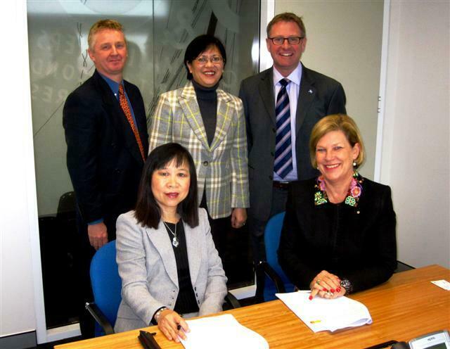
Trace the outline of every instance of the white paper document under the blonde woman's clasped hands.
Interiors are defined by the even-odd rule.
[[[314,333],[336,331],[346,327],[371,324],[372,317],[367,307],[347,297],[326,299],[314,297],[309,292],[276,293],[285,305],[293,311]]]

